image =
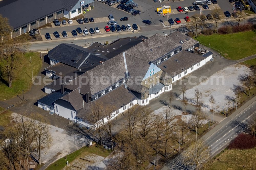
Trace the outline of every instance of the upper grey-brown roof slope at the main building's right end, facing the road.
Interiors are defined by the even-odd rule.
[[[181,46],[181,44],[177,44],[176,42],[173,42],[157,33],[145,41],[133,46],[129,50],[126,50],[125,52],[147,61],[152,61],[152,59],[154,61],[159,57],[166,55],[168,52],[177,48],[178,46]],[[152,49],[152,52],[150,49]]]

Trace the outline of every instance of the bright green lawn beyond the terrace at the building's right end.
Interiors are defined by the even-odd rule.
[[[231,60],[238,60],[256,54],[256,33],[254,31],[232,34],[200,35],[195,38],[203,45],[213,47]]]

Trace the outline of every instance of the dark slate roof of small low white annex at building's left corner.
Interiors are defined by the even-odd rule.
[[[61,91],[54,91],[50,94],[47,94],[43,98],[37,100],[38,102],[44,103],[50,107],[54,107],[54,102],[58,100],[59,98],[62,98],[64,95],[68,94],[67,92],[64,92],[64,94],[61,94]]]

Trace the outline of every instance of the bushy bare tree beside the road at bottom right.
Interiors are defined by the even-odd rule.
[[[210,148],[203,138],[191,142],[185,152],[186,159],[196,166],[196,170],[200,164],[210,157]]]

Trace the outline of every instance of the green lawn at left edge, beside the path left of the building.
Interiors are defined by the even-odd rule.
[[[32,63],[30,63],[30,56]],[[39,53],[26,53],[25,56],[23,55],[23,59],[21,56],[18,68],[15,70],[12,88],[9,88],[5,83],[0,81],[0,100],[7,100],[16,95],[22,94],[22,90],[27,91],[31,87],[32,67],[33,76],[35,76],[42,67],[42,60],[40,59]],[[7,77],[3,77],[3,79],[6,81],[8,80]]]

